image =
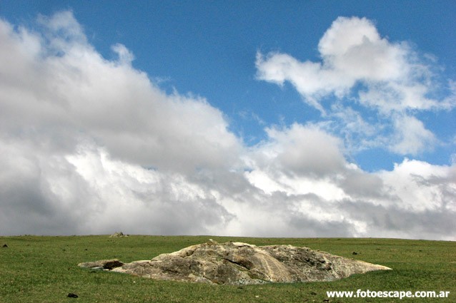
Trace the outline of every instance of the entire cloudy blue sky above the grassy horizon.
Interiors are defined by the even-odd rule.
[[[456,240],[455,1],[0,1],[0,235]]]

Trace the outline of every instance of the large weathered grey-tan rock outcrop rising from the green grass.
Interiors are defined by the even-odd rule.
[[[79,266],[104,268],[106,265],[103,262],[106,261],[113,260],[86,262]],[[152,260],[136,261],[112,268],[113,272],[151,279],[210,284],[332,281],[352,274],[390,269],[310,250],[307,247],[257,247],[241,242],[219,244],[214,241],[159,255]]]

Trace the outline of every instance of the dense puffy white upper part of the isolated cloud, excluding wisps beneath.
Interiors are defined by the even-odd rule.
[[[290,81],[304,100],[320,108],[318,99],[334,93],[342,97],[355,83],[396,81],[407,74],[405,46],[380,38],[367,19],[339,17],[319,41],[322,63],[299,62],[284,53],[257,54],[258,78],[274,83]]]

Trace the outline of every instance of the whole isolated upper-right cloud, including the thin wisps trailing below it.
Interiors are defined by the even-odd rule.
[[[320,39],[318,50],[320,62],[301,62],[287,53],[257,53],[257,78],[279,85],[285,81],[292,83],[309,106],[332,121],[337,128],[334,133],[345,135],[345,144],[356,150],[371,148],[377,142],[377,146],[395,145],[390,148],[395,153],[416,155],[420,147],[436,142],[430,130],[412,115],[416,111],[455,108],[452,81],[446,88],[447,96],[432,98],[435,88],[441,85],[435,81],[432,66],[409,43],[382,38],[368,19],[339,17]],[[335,105],[325,107],[321,101],[327,97],[333,97]],[[354,111],[348,105],[353,102],[362,110]],[[363,117],[367,111],[374,112],[382,124],[366,123]],[[404,128],[398,127],[398,115],[408,121],[402,122],[402,126],[413,128],[413,142],[397,142],[405,133]],[[357,123],[355,128],[346,128],[347,120],[343,118],[347,116],[358,117],[350,121],[350,127]],[[418,128],[423,135],[418,135]],[[371,131],[361,134],[360,129]],[[358,138],[355,142],[364,144],[350,140],[353,135]]]

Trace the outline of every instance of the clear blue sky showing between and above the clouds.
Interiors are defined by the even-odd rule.
[[[38,14],[66,9],[73,11],[102,56],[116,56],[111,50],[114,43],[127,46],[135,68],[167,92],[207,98],[248,145],[265,138],[265,125],[322,120],[289,83],[280,88],[258,80],[257,51],[321,61],[319,39],[338,16],[372,20],[388,41],[410,43],[423,58],[434,56],[432,68],[444,69],[436,75],[442,85],[456,79],[454,1],[4,1],[1,15],[30,24]],[[441,142],[414,158],[450,163],[455,153],[454,111],[417,114]],[[392,169],[404,155],[374,148],[348,156],[373,171]]]

